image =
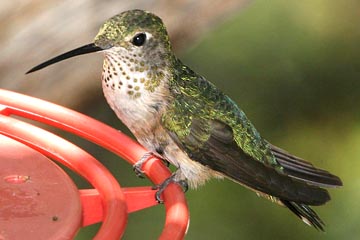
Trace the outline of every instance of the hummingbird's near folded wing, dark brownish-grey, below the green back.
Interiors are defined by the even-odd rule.
[[[232,128],[218,120],[192,119],[186,136],[169,135],[188,156],[246,187],[279,199],[321,205],[325,189],[295,180],[246,154],[234,140]]]

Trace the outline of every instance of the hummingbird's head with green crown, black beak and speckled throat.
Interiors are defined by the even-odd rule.
[[[122,81],[131,80],[142,83],[150,91],[159,85],[174,59],[162,20],[143,10],[130,10],[108,19],[93,43],[54,57],[27,73],[67,58],[98,51],[105,53],[103,80],[108,85],[113,84],[109,82],[111,78],[121,76],[121,85],[125,84]]]

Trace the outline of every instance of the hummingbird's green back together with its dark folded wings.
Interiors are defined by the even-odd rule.
[[[270,145],[229,97],[181,69],[181,77],[170,82],[175,97],[162,125],[192,160],[281,200],[309,205],[330,200],[320,186],[341,185],[338,177]]]

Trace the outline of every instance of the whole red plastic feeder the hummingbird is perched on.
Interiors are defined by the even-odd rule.
[[[43,100],[0,89],[0,240],[72,239],[78,229],[97,222],[94,239],[119,239],[127,214],[157,204],[151,187],[121,188],[91,155],[21,116],[76,134],[126,159],[130,164],[147,150],[97,120]],[[52,160],[72,169],[95,189],[78,190]],[[160,159],[143,165],[154,184],[170,176]],[[182,189],[163,193],[166,210],[159,239],[183,239],[189,212]]]

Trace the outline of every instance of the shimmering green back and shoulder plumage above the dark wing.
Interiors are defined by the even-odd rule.
[[[178,66],[174,67],[174,78],[169,84],[176,97],[163,116],[165,127],[183,140],[188,136],[194,119],[205,125],[208,120],[217,120],[231,127],[235,142],[246,154],[281,171],[268,143],[261,138],[245,113],[212,83],[179,60],[175,64]],[[209,135],[202,138],[205,142]]]

